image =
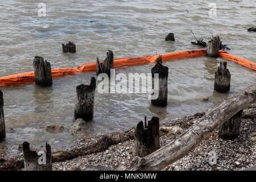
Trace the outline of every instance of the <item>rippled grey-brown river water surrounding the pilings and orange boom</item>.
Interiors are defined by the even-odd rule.
[[[33,71],[34,56],[42,56],[52,68],[75,68],[105,59],[108,49],[114,58],[155,55],[200,49],[191,44],[190,26],[198,37],[208,41],[212,30],[229,53],[254,61],[256,34],[247,28],[256,26],[256,1],[214,1],[216,16],[209,16],[208,1],[43,1],[46,16],[38,16],[42,1],[2,1],[0,5],[0,77]],[[205,27],[205,28],[204,28]],[[165,42],[174,32],[175,42]],[[63,53],[61,43],[76,43],[77,53]],[[136,126],[146,115],[160,121],[205,111],[227,96],[256,82],[255,71],[228,61],[232,75],[230,93],[213,91],[214,72],[221,58],[197,57],[167,61],[168,105],[150,105],[146,94],[99,94],[96,92],[94,119],[88,122],[88,134],[123,131]],[[122,67],[115,73],[151,73],[152,64]],[[48,142],[52,150],[64,150],[78,139],[68,133],[73,123],[76,86],[88,84],[96,73],[80,73],[53,80],[50,88],[33,82],[2,86],[4,94],[6,139],[0,153],[18,154],[18,144]],[[209,101],[200,101],[201,97]],[[47,133],[49,124],[64,126],[63,133]],[[14,132],[11,133],[10,128]]]

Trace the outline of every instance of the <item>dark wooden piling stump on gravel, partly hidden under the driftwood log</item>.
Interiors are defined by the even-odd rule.
[[[241,116],[243,110],[224,122],[219,128],[219,137],[222,139],[233,140],[236,139],[240,133]]]

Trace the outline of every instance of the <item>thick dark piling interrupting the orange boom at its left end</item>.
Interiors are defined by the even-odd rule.
[[[51,86],[52,85],[51,63],[49,63],[47,60],[44,61],[43,57],[35,56],[33,65],[34,65],[36,85]]]

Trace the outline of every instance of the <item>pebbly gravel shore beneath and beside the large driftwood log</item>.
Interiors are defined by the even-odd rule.
[[[255,123],[256,104],[243,110],[240,136],[234,140],[222,140],[218,138],[218,129],[214,131],[208,140],[203,140],[188,155],[177,160],[175,163],[166,167],[167,171],[180,170],[243,170],[255,166],[256,156],[256,123]],[[160,147],[170,143],[178,137],[184,130],[188,129],[196,119],[202,117],[204,113],[189,115],[185,118],[177,118],[168,121],[167,119],[160,124]],[[172,131],[166,132],[166,128]],[[97,137],[80,140],[81,146],[97,140]],[[65,162],[53,163],[53,170],[108,170],[115,169],[123,164],[130,163],[134,156],[134,140],[126,140],[110,146],[108,150],[79,156],[78,158]],[[216,164],[210,164],[209,159],[213,152],[216,154]]]

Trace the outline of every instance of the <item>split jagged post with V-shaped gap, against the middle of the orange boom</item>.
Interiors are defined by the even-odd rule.
[[[106,73],[110,77],[110,69],[114,68],[114,55],[113,52],[108,50],[106,53],[107,57],[103,63],[98,60],[97,57],[97,76],[100,73]]]

